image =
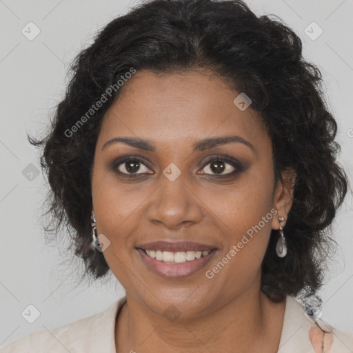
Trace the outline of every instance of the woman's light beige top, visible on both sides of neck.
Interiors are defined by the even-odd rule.
[[[125,301],[126,296],[123,296],[103,312],[50,329],[50,332],[34,331],[0,348],[0,352],[116,353],[115,319]],[[291,296],[287,296],[278,353],[353,352],[353,335],[337,331],[324,321],[319,320],[317,323],[323,330],[332,333],[323,334],[318,325],[307,319],[303,307]]]

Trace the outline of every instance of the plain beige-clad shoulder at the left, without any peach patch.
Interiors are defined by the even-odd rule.
[[[125,296],[97,314],[54,329],[37,330],[0,348],[1,353],[115,352],[115,319]],[[99,349],[97,349],[99,347]]]

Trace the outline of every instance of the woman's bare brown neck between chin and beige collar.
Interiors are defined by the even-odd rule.
[[[170,322],[127,294],[115,330],[117,352],[276,352],[284,310],[285,301],[273,303],[255,290]]]

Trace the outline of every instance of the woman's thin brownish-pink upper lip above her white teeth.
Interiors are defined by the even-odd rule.
[[[187,252],[187,251],[209,251],[216,249],[212,245],[207,245],[203,243],[194,243],[192,241],[178,241],[178,242],[169,242],[169,241],[152,241],[151,243],[145,243],[137,245],[136,248],[143,250],[161,250],[161,251],[170,251],[170,252]]]

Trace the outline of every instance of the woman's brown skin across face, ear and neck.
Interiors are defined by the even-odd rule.
[[[234,352],[236,347],[236,352],[273,353],[279,347],[285,302],[272,303],[261,292],[261,261],[271,230],[279,229],[279,216],[286,219],[290,211],[292,188],[281,182],[274,188],[270,138],[253,110],[234,105],[238,94],[211,72],[144,70],[125,83],[105,114],[94,155],[92,198],[97,232],[111,242],[103,254],[127,296],[117,318],[117,352]],[[192,152],[196,140],[230,134],[249,141],[254,150],[227,143]],[[148,139],[156,150],[119,142],[102,151],[114,137]],[[109,169],[126,154],[145,159],[137,172],[145,177],[130,180]],[[216,179],[214,163],[206,158],[219,154],[236,159],[244,170]],[[170,163],[181,170],[175,181],[163,175]],[[219,174],[234,170],[225,163]],[[119,170],[128,173],[126,167],[122,163]],[[283,174],[289,183],[294,177]],[[205,271],[272,209],[278,212],[272,220],[214,278],[206,278]],[[164,279],[144,265],[135,249],[159,240],[206,243],[218,250],[195,274]],[[170,305],[181,313],[173,322],[163,315]]]

